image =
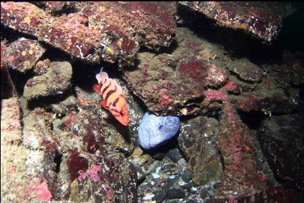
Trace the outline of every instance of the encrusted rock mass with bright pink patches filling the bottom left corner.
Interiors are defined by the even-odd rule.
[[[26,101],[21,100],[22,126],[17,98],[1,103],[3,200],[34,202],[69,197],[81,202],[137,202],[136,171],[108,144],[110,138],[106,136],[111,133],[103,129],[105,120],[101,123],[97,114],[85,109],[78,114],[76,100],[72,107],[70,98],[57,108],[48,107],[50,112],[41,107],[28,111]],[[57,119],[54,109],[68,120]],[[99,195],[90,197],[92,191]]]

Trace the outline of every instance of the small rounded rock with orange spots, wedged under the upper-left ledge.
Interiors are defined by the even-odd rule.
[[[34,67],[44,52],[45,48],[38,41],[21,37],[10,43],[5,60],[10,68],[26,72]]]

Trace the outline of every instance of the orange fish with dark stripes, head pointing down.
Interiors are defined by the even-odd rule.
[[[108,109],[122,125],[129,125],[127,101],[125,96],[123,96],[121,86],[109,78],[108,74],[103,72],[102,67],[99,74],[96,74],[96,79],[98,85],[94,85],[93,89],[103,98],[103,100],[99,101],[99,105]]]

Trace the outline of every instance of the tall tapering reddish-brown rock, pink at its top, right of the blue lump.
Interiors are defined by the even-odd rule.
[[[224,170],[214,197],[253,195],[263,190],[265,183],[259,181],[263,174],[256,169],[252,134],[229,103],[224,105],[223,113],[217,145]]]

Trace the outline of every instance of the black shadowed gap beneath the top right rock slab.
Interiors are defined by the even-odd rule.
[[[178,7],[178,13],[187,22],[185,26],[210,43],[224,47],[230,57],[247,57],[252,63],[261,65],[281,61],[282,51],[285,49],[291,52],[304,50],[304,24],[301,23],[304,21],[304,3],[291,4],[296,11],[284,19],[281,32],[271,43],[256,39],[243,30],[220,27],[204,14],[193,12],[184,6]]]

